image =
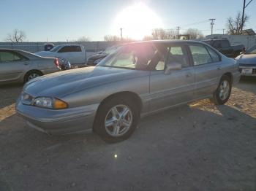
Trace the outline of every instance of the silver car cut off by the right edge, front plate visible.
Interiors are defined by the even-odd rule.
[[[256,77],[256,45],[236,57],[242,76]]]

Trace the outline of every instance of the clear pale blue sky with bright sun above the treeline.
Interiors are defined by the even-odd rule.
[[[242,6],[243,0],[0,0],[0,42],[15,28],[24,31],[29,42],[72,41],[81,36],[99,41],[108,34],[119,35],[120,28],[124,37],[135,39],[149,28],[177,26],[181,33],[198,28],[208,35],[209,18],[216,19],[214,34],[222,34],[227,17],[236,16]],[[246,28],[256,30],[255,9],[253,0],[246,7]]]

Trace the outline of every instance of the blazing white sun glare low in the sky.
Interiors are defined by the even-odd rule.
[[[146,4],[134,4],[118,13],[113,22],[113,34],[120,34],[123,28],[123,37],[140,40],[150,35],[152,29],[162,28],[162,20]]]

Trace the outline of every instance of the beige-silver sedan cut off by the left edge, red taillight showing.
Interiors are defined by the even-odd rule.
[[[0,83],[28,82],[59,69],[58,58],[42,58],[23,50],[0,49]]]

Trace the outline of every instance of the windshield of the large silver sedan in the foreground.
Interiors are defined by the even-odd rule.
[[[98,66],[147,70],[154,58],[157,49],[152,44],[128,44],[108,55]]]

